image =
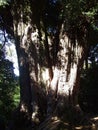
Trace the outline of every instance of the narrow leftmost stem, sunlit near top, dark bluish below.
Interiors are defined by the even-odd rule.
[[[13,28],[20,72],[20,110],[30,114],[32,111],[32,95],[29,75],[29,57],[27,51],[27,42],[29,38],[29,31],[31,28],[30,25],[27,25],[25,28],[25,25],[23,23],[24,7],[22,7],[21,4],[17,6],[18,3],[16,1],[13,2],[15,2],[12,7]],[[19,15],[20,17],[18,17]]]

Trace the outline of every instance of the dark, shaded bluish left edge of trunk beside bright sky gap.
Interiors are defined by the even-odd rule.
[[[20,81],[20,109],[21,111],[31,113],[31,85],[30,85],[30,75],[29,75],[29,60],[28,54],[25,48],[20,47],[21,42],[19,37],[16,37],[16,50],[18,54],[19,63],[19,81]]]

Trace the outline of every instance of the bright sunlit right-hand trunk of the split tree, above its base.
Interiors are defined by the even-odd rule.
[[[85,41],[82,38],[78,41],[74,37],[73,43],[66,33],[60,35],[61,49],[57,55],[58,61],[53,70],[48,93],[49,115],[56,113],[62,116],[66,107],[78,104],[80,74],[86,55]],[[84,42],[83,46],[80,44],[81,41]]]

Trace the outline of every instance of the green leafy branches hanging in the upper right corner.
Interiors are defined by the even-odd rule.
[[[98,29],[98,1],[97,0],[60,0],[62,3],[62,10],[60,15],[63,16],[65,22],[81,23],[79,17],[83,16],[94,27]],[[67,25],[67,26],[68,26]]]

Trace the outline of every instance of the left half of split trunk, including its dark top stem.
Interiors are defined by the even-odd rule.
[[[39,67],[38,31],[29,22],[30,18],[27,20],[27,24],[24,23],[24,7],[18,2],[15,2],[13,6],[16,9],[13,9],[13,27],[20,72],[19,113],[26,115],[22,117],[22,120],[27,117],[26,120],[39,123],[39,100],[43,100],[42,104],[45,103],[43,92],[39,87],[41,70]],[[40,103],[40,106],[42,104]],[[16,118],[20,120],[20,116]],[[21,125],[23,125],[22,122]]]

